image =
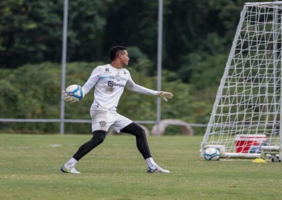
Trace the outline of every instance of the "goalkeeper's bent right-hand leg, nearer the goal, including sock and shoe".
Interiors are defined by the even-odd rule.
[[[120,130],[120,132],[130,133],[132,135],[135,135],[137,149],[143,155],[148,165],[148,173],[155,173],[155,172],[170,173],[170,171],[159,167],[154,162],[151,156],[151,153],[150,153],[149,145],[147,143],[147,137],[146,137],[145,130],[142,127],[140,127],[139,125],[135,123],[131,123],[128,126],[126,126],[125,128],[123,128],[122,130]]]

